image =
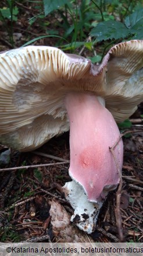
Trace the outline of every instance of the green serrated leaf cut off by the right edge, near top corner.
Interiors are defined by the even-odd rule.
[[[128,15],[124,20],[124,24],[128,29],[131,29],[139,20],[143,18],[143,9],[137,10],[131,15]]]

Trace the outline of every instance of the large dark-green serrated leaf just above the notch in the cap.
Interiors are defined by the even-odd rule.
[[[108,20],[99,22],[98,25],[91,30],[90,34],[96,37],[96,41],[105,41],[108,39],[124,39],[130,34],[130,30],[121,22]]]

